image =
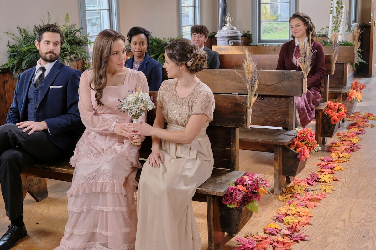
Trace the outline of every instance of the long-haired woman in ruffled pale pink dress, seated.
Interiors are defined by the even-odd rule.
[[[124,43],[117,31],[101,31],[94,42],[93,69],[80,78],[79,111],[86,130],[71,158],[69,218],[58,250],[135,247],[135,175],[143,137],[131,133],[131,117],[117,106],[129,90],[149,90],[142,72],[124,67]]]

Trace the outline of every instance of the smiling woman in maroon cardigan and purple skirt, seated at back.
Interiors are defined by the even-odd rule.
[[[299,42],[306,42],[311,33],[316,36],[315,26],[311,18],[303,13],[294,13],[290,17],[291,37],[293,40],[284,43],[279,52],[276,70],[302,70],[299,66]],[[312,41],[311,70],[307,76],[307,93],[296,97],[297,124],[305,127],[315,118],[315,106],[321,102],[320,82],[326,75],[324,49],[321,43]]]

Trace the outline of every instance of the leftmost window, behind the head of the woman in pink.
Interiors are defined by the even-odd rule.
[[[79,0],[82,33],[89,34],[89,40],[94,42],[98,33],[106,28],[119,30],[118,6],[118,0]],[[92,46],[87,48],[90,58],[92,58]]]

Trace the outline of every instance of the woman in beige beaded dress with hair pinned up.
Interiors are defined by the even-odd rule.
[[[206,52],[191,40],[168,44],[165,59],[163,67],[173,79],[162,82],[158,91],[153,126],[130,124],[135,135],[152,136],[152,153],[138,186],[135,249],[198,250],[191,199],[213,169],[206,128],[213,118],[214,96],[195,75],[207,65]]]

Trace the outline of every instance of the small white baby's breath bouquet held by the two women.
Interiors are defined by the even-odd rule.
[[[138,88],[137,92],[133,92],[133,90],[129,91],[129,95],[127,97],[125,97],[123,100],[118,99],[118,101],[120,102],[120,105],[117,107],[120,112],[124,113],[127,111],[129,116],[133,118],[133,123],[137,123],[138,118],[141,115],[155,108],[153,97],[150,97],[149,94],[142,92],[140,88]],[[135,143],[132,142],[132,145],[135,145]]]

